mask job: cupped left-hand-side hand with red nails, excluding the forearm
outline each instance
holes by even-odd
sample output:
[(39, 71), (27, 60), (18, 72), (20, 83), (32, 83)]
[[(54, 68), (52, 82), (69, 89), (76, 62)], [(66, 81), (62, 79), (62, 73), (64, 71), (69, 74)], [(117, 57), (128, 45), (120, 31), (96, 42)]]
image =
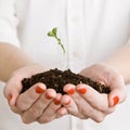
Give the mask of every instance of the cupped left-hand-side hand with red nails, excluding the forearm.
[[(11, 109), (21, 115), (25, 123), (32, 121), (46, 123), (67, 113), (65, 108), (61, 108), (62, 95), (53, 89), (47, 89), (41, 82), (21, 93), (22, 79), (44, 70), (47, 68), (38, 64), (25, 66), (15, 70), (4, 87), (4, 95)], [(57, 114), (56, 110), (60, 113)]]

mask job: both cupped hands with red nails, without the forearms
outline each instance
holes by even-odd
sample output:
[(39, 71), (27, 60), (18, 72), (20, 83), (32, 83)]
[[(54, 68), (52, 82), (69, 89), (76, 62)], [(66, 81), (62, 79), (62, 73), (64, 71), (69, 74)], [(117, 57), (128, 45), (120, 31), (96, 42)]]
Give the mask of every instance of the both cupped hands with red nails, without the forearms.
[(70, 114), (81, 119), (91, 118), (96, 122), (115, 110), (116, 104), (126, 99), (126, 87), (122, 76), (106, 64), (95, 64), (80, 74), (110, 87), (110, 93), (99, 93), (87, 84), (66, 84), (62, 95), (53, 89), (46, 89), (43, 83), (32, 86), (26, 92), (22, 90), (21, 80), (37, 73), (47, 70), (38, 64), (15, 70), (4, 88), (4, 95), (11, 109), (20, 114), (25, 123), (49, 122)]

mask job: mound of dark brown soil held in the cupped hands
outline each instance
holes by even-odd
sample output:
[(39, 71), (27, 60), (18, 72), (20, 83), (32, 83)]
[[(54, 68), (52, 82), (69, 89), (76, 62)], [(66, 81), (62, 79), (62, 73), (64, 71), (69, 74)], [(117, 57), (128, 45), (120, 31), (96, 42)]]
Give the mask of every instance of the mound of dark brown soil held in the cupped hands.
[(79, 74), (75, 74), (69, 69), (62, 72), (55, 68), (44, 73), (36, 74), (30, 78), (24, 78), (22, 80), (23, 90), (21, 93), (25, 92), (27, 89), (29, 89), (32, 84), (37, 82), (43, 82), (47, 86), (47, 88), (53, 88), (55, 89), (56, 92), (60, 92), (62, 94), (65, 94), (65, 92), (63, 91), (63, 87), (66, 83), (73, 83), (73, 84), (87, 83), (96, 91), (99, 91), (100, 93), (110, 92), (108, 87), (92, 81), (90, 78), (83, 77)]

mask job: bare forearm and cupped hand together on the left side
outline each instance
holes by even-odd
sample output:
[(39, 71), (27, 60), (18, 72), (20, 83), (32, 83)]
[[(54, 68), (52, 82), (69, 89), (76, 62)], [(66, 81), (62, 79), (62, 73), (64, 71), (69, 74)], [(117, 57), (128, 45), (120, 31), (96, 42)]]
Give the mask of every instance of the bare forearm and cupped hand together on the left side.
[(44, 72), (46, 67), (34, 63), (25, 52), (8, 43), (0, 43), (0, 79), (6, 82), (4, 95), (11, 109), (20, 114), (25, 123), (32, 121), (46, 123), (67, 113), (65, 108), (61, 108), (61, 113), (56, 114), (62, 105), (60, 104), (62, 95), (52, 89), (46, 89), (43, 83), (39, 82), (20, 94), (22, 79)]

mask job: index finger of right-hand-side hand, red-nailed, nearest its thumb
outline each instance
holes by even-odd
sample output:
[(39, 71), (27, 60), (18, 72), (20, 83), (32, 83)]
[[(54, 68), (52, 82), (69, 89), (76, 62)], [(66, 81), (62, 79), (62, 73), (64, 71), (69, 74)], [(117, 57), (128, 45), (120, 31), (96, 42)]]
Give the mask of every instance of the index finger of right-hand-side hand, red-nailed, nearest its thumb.
[[(112, 113), (114, 108), (108, 107), (108, 100), (107, 94), (99, 93), (93, 88), (89, 87), (88, 84), (78, 84), (76, 87), (77, 92), (82, 96), (86, 102), (88, 102), (92, 107), (95, 109)], [(84, 93), (86, 92), (86, 93)]]

